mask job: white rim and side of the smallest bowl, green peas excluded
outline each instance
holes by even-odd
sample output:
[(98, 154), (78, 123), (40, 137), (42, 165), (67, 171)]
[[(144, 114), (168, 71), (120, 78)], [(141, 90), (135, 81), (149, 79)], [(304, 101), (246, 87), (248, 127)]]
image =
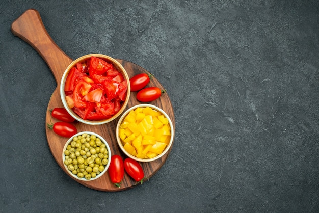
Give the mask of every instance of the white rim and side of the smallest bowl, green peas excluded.
[[(67, 149), (67, 146), (73, 141), (74, 137), (78, 137), (78, 136), (82, 136), (83, 134), (88, 134), (88, 135), (95, 135), (96, 138), (99, 138), (101, 140), (101, 142), (103, 144), (105, 144), (105, 148), (108, 150), (108, 163), (107, 165), (104, 165), (104, 170), (102, 172), (100, 172), (99, 174), (96, 175), (96, 177), (91, 178), (91, 179), (86, 179), (85, 177), (83, 178), (79, 178), (77, 175), (73, 174), (69, 169), (68, 166), (64, 163), (65, 159), (66, 159), (66, 155), (65, 155), (65, 150)], [(76, 149), (76, 148), (75, 148)], [(81, 156), (81, 155), (80, 155)], [(78, 159), (76, 157), (76, 159)], [(77, 134), (75, 134), (74, 136), (72, 136), (71, 138), (68, 139), (68, 141), (65, 143), (64, 147), (63, 147), (63, 152), (62, 152), (62, 161), (63, 161), (63, 165), (64, 168), (66, 169), (66, 171), (69, 173), (70, 176), (74, 177), (75, 179), (78, 180), (83, 180), (83, 181), (92, 181), (92, 180), (96, 180), (97, 178), (101, 177), (109, 168), (110, 163), (111, 163), (111, 149), (109, 144), (107, 143), (107, 141), (105, 141), (105, 139), (103, 137), (101, 137), (100, 135), (96, 134), (95, 132), (91, 132), (91, 131), (83, 131), (83, 132), (78, 132)]]

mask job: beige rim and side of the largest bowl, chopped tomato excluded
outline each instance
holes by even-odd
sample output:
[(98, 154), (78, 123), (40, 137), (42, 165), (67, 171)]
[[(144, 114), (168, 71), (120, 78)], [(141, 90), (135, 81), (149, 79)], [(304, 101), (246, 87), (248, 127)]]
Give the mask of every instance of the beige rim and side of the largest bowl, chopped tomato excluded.
[[(114, 114), (112, 117), (108, 118), (108, 119), (104, 119), (104, 120), (97, 120), (97, 121), (92, 121), (92, 120), (84, 120), (81, 117), (79, 117), (76, 113), (73, 112), (72, 109), (70, 109), (68, 107), (68, 104), (66, 102), (65, 99), (65, 92), (64, 92), (64, 87), (65, 87), (65, 81), (66, 78), (71, 70), (72, 67), (76, 66), (76, 63), (82, 63), (84, 61), (86, 61), (87, 59), (91, 58), (92, 56), (103, 59), (104, 61), (113, 64), (113, 66), (120, 72), (122, 73), (124, 79), (126, 79), (127, 81), (127, 92), (126, 92), (126, 98), (125, 100), (121, 103), (121, 109), (119, 110), (119, 112), (117, 112), (116, 114)], [(126, 70), (124, 69), (124, 67), (115, 59), (106, 56), (106, 55), (102, 55), (102, 54), (89, 54), (89, 55), (85, 55), (82, 57), (79, 57), (78, 59), (74, 60), (64, 71), (62, 79), (61, 79), (61, 85), (60, 85), (60, 95), (61, 95), (61, 100), (63, 103), (64, 108), (68, 111), (68, 113), (75, 118), (77, 121), (85, 123), (85, 124), (89, 124), (89, 125), (100, 125), (100, 124), (105, 124), (108, 122), (113, 121), (114, 119), (116, 119), (118, 116), (120, 116), (122, 114), (122, 112), (125, 110), (126, 105), (128, 103), (129, 97), (130, 97), (130, 84), (129, 84), (129, 77), (127, 75)]]

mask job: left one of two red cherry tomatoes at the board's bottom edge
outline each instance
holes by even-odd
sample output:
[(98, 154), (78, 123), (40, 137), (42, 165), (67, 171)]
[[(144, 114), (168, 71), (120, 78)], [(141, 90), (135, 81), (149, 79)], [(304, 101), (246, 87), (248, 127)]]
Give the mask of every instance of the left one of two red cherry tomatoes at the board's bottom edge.
[(124, 163), (120, 155), (112, 155), (108, 171), (111, 182), (115, 185), (115, 187), (120, 188), (120, 184), (124, 177)]

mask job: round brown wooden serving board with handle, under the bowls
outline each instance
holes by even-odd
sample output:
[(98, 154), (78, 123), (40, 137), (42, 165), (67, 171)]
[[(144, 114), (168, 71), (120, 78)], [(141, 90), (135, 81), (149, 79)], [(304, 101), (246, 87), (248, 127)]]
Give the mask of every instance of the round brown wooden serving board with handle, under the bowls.
[[(47, 33), (43, 25), (39, 12), (35, 9), (29, 9), (25, 11), (18, 19), (16, 19), (12, 23), (11, 30), (15, 36), (29, 43), (33, 48), (37, 50), (37, 52), (42, 56), (42, 58), (45, 60), (45, 62), (49, 66), (50, 70), (52, 71), (56, 79), (57, 88), (55, 89), (55, 91), (53, 92), (49, 100), (49, 103), (47, 106), (45, 124), (43, 127), (46, 130), (47, 142), (52, 155), (56, 159), (59, 166), (65, 171), (66, 174), (68, 174), (62, 162), (62, 149), (64, 144), (67, 141), (67, 138), (58, 136), (52, 130), (47, 128), (46, 124), (51, 123), (51, 121), (53, 123), (58, 121), (55, 118), (51, 117), (49, 110), (54, 109), (56, 107), (63, 107), (63, 104), (60, 98), (60, 82), (65, 69), (73, 60), (70, 57), (68, 57), (58, 47), (58, 45), (51, 39), (51, 37), (49, 36), (49, 34)], [(131, 63), (125, 60), (120, 60), (120, 59), (117, 59), (117, 61), (119, 61), (122, 64), (122, 66), (126, 69), (129, 77), (132, 77), (139, 73), (148, 73), (145, 69), (143, 69), (142, 67), (134, 63)], [(151, 80), (151, 82), (149, 83), (149, 86), (157, 86), (161, 89), (164, 89), (163, 86), (157, 81), (156, 78), (153, 78)], [(136, 92), (131, 92), (130, 100), (127, 104), (126, 109), (140, 103), (141, 102), (139, 102), (136, 99)], [(173, 112), (173, 107), (172, 107), (169, 96), (167, 94), (163, 94), (161, 98), (150, 102), (150, 104), (156, 105), (157, 107), (163, 109), (170, 116), (173, 122), (174, 130), (175, 130), (174, 112)], [(109, 143), (112, 155), (119, 154), (124, 159), (126, 156), (119, 149), (117, 145), (117, 141), (116, 141), (116, 135), (115, 135), (118, 119), (119, 118), (113, 120), (112, 122), (108, 124), (103, 124), (103, 125), (87, 125), (87, 124), (83, 124), (79, 122), (74, 122), (74, 125), (76, 126), (78, 132), (92, 131), (101, 135)], [(168, 153), (164, 155), (162, 158), (159, 158), (158, 160), (154, 162), (140, 163), (142, 168), (144, 169), (145, 177), (150, 178), (163, 166), (170, 151), (171, 150), (169, 150)], [(92, 180), (92, 181), (81, 181), (75, 178), (73, 179), (85, 185), (86, 187), (89, 187), (95, 190), (100, 190), (100, 191), (121, 191), (121, 190), (132, 188), (135, 185), (137, 185), (137, 182), (134, 181), (132, 178), (130, 178), (127, 175), (127, 173), (124, 174), (124, 179), (121, 184), (121, 188), (114, 187), (113, 183), (110, 181), (108, 172), (104, 173), (104, 175), (101, 176), (100, 178), (96, 180)]]

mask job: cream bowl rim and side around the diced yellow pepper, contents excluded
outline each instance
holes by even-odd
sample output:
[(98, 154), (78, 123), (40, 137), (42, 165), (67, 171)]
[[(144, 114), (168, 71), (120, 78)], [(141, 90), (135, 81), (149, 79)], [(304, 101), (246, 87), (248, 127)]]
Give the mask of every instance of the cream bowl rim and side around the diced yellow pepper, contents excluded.
[[(170, 127), (170, 131), (171, 131), (171, 138), (170, 138), (170, 141), (168, 143), (168, 145), (165, 147), (164, 151), (161, 153), (161, 154), (158, 154), (157, 156), (155, 157), (152, 157), (152, 158), (139, 158), (139, 157), (136, 157), (134, 155), (131, 155), (130, 153), (128, 153), (124, 147), (123, 147), (123, 144), (122, 144), (122, 141), (121, 141), (121, 138), (120, 138), (120, 135), (119, 135), (119, 129), (120, 129), (120, 125), (122, 124), (124, 118), (128, 115), (128, 113), (132, 110), (135, 110), (137, 108), (146, 108), (146, 107), (150, 107), (152, 110), (155, 110), (157, 112), (160, 112), (162, 115), (164, 115), (164, 117), (166, 117), (168, 119), (168, 122), (169, 122), (169, 127)], [(155, 105), (152, 105), (152, 104), (139, 104), (139, 105), (135, 105), (134, 107), (131, 107), (129, 108), (128, 110), (126, 110), (122, 116), (120, 117), (118, 123), (117, 123), (117, 126), (116, 126), (116, 140), (117, 140), (117, 143), (120, 147), (120, 149), (124, 152), (124, 154), (126, 154), (128, 157), (132, 158), (132, 159), (135, 159), (136, 161), (139, 161), (139, 162), (151, 162), (151, 161), (155, 161), (156, 159), (158, 158), (161, 158), (163, 155), (165, 155), (168, 150), (170, 150), (172, 144), (173, 144), (173, 140), (174, 140), (174, 128), (173, 128), (173, 123), (170, 119), (170, 117), (161, 109), (161, 108), (158, 108), (156, 107)]]

